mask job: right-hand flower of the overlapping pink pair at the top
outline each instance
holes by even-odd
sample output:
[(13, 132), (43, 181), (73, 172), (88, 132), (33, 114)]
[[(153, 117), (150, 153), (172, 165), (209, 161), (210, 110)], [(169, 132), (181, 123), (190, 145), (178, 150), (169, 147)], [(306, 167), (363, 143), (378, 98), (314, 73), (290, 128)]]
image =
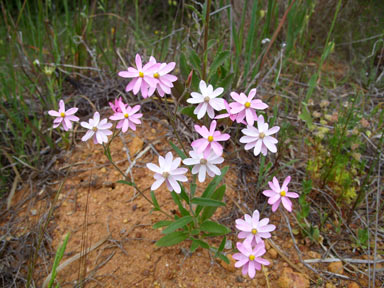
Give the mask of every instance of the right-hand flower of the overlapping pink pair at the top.
[[(152, 62), (154, 65), (157, 64), (156, 59), (153, 56), (151, 56), (149, 61)], [(177, 77), (168, 73), (175, 69), (175, 66), (175, 62), (170, 62), (168, 64), (161, 63), (160, 66), (157, 66), (158, 68), (153, 73), (153, 78), (159, 81), (155, 87), (148, 86), (148, 97), (152, 96), (156, 89), (161, 97), (163, 97), (165, 94), (171, 94), (171, 88), (173, 87), (172, 82), (175, 82), (177, 80)]]

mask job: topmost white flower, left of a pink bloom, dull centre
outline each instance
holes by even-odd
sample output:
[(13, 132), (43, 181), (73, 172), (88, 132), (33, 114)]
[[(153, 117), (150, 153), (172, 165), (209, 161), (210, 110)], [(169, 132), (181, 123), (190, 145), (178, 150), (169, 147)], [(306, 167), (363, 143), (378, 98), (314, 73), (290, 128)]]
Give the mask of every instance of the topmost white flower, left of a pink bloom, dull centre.
[(197, 119), (204, 117), (205, 113), (208, 113), (209, 118), (213, 119), (215, 117), (215, 111), (220, 111), (225, 109), (224, 99), (216, 98), (224, 92), (224, 88), (219, 87), (213, 90), (212, 85), (208, 85), (201, 80), (199, 84), (200, 92), (192, 92), (192, 98), (187, 99), (188, 103), (199, 104), (193, 111), (197, 115)]

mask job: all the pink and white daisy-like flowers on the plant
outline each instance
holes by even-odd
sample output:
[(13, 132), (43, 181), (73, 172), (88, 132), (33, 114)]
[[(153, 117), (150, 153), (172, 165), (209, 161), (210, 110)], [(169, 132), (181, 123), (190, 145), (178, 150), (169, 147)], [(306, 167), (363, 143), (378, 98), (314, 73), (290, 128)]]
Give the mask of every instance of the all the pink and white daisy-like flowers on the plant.
[[(171, 93), (173, 82), (177, 77), (169, 74), (174, 68), (175, 63), (157, 63), (154, 57), (151, 57), (149, 62), (145, 65), (142, 64), (141, 57), (136, 55), (136, 68), (129, 67), (127, 71), (121, 71), (119, 76), (124, 78), (133, 78), (126, 86), (126, 91), (132, 91), (135, 95), (140, 91), (144, 98), (151, 97), (155, 91), (163, 97), (165, 94)], [(202, 119), (206, 114), (212, 122), (209, 129), (202, 125), (195, 125), (196, 132), (201, 138), (191, 143), (191, 151), (189, 151), (190, 158), (183, 160), (183, 164), (193, 166), (192, 174), (198, 174), (200, 182), (204, 182), (206, 174), (209, 177), (220, 175), (221, 171), (216, 166), (224, 162), (223, 146), (219, 142), (227, 141), (230, 138), (229, 134), (221, 133), (217, 128), (216, 119), (229, 118), (231, 121), (236, 121), (246, 125), (242, 129), (244, 136), (240, 138), (240, 142), (245, 144), (245, 149), (250, 150), (253, 148), (253, 153), (258, 156), (260, 153), (264, 156), (270, 151), (275, 153), (277, 151), (276, 138), (272, 137), (279, 131), (278, 126), (269, 129), (268, 123), (264, 121), (262, 115), (257, 115), (256, 110), (264, 110), (268, 105), (259, 99), (254, 99), (256, 96), (256, 89), (252, 89), (248, 96), (244, 93), (231, 92), (230, 96), (234, 100), (228, 103), (225, 99), (220, 98), (224, 89), (219, 87), (214, 89), (212, 85), (207, 85), (203, 80), (199, 84), (200, 93), (192, 92), (191, 98), (187, 100), (188, 103), (197, 104), (194, 109), (194, 114), (198, 119)], [(140, 118), (143, 116), (138, 113), (141, 106), (134, 107), (125, 104), (121, 97), (116, 99), (114, 103), (109, 103), (114, 114), (109, 117), (110, 120), (118, 121), (116, 129), (121, 129), (125, 133), (129, 128), (136, 130), (136, 125), (141, 124)], [(64, 101), (59, 102), (59, 111), (50, 110), (49, 115), (56, 117), (53, 127), (56, 128), (60, 124), (65, 131), (72, 129), (72, 122), (78, 122), (79, 118), (74, 116), (78, 108), (70, 108), (65, 110)], [(225, 110), (226, 113), (215, 115), (215, 111)], [(255, 122), (257, 128), (254, 127)], [(88, 141), (93, 138), (95, 144), (108, 143), (108, 136), (112, 135), (112, 123), (108, 119), (100, 120), (99, 112), (95, 112), (93, 118), (88, 122), (81, 122), (80, 125), (88, 131), (82, 137), (82, 141)], [(152, 184), (151, 189), (157, 190), (164, 182), (168, 190), (181, 193), (181, 187), (178, 182), (186, 182), (188, 178), (185, 176), (188, 169), (180, 167), (181, 158), (173, 158), (173, 154), (168, 152), (165, 157), (159, 156), (159, 165), (148, 163), (147, 168), (153, 171), (155, 182)], [(272, 205), (272, 211), (275, 212), (280, 203), (288, 210), (292, 211), (292, 202), (289, 198), (297, 198), (298, 194), (288, 192), (288, 183), (290, 177), (284, 180), (283, 185), (280, 187), (278, 180), (274, 177), (272, 182), (269, 182), (271, 190), (266, 190), (263, 194), (269, 197), (268, 204)], [(243, 243), (238, 242), (237, 248), (240, 253), (234, 255), (238, 260), (236, 267), (243, 267), (243, 274), (247, 274), (253, 278), (255, 270), (260, 270), (261, 265), (268, 265), (269, 262), (261, 256), (266, 252), (264, 241), (262, 238), (271, 237), (270, 232), (275, 230), (275, 226), (268, 224), (269, 219), (264, 218), (260, 220), (260, 215), (257, 210), (253, 212), (252, 217), (245, 215), (245, 220), (237, 219), (236, 227), (241, 230), (238, 237), (245, 239)]]

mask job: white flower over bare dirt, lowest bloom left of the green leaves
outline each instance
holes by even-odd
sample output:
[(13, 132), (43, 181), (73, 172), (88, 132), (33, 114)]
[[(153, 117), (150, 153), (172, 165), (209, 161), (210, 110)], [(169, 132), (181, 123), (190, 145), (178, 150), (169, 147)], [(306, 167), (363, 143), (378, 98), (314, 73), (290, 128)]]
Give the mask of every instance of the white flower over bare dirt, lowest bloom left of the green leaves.
[(169, 191), (175, 191), (180, 194), (181, 188), (177, 181), (188, 181), (188, 178), (184, 175), (187, 173), (188, 169), (178, 168), (180, 163), (181, 158), (176, 157), (175, 160), (173, 160), (171, 152), (168, 152), (165, 155), (165, 158), (159, 156), (159, 166), (153, 163), (147, 163), (147, 168), (155, 172), (154, 178), (156, 181), (152, 184), (151, 190), (156, 190), (163, 184), (163, 182), (165, 182)]

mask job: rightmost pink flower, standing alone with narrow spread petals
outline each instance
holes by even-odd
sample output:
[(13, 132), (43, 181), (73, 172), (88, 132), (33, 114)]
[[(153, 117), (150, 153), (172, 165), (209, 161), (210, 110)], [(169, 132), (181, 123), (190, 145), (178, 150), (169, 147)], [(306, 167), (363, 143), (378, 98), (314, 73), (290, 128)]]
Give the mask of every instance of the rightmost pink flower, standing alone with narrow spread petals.
[(289, 212), (292, 212), (292, 202), (289, 198), (298, 198), (299, 194), (294, 192), (288, 192), (288, 184), (291, 181), (291, 176), (285, 178), (283, 185), (280, 187), (279, 181), (277, 181), (276, 177), (273, 177), (273, 182), (268, 182), (269, 187), (272, 190), (265, 190), (263, 194), (268, 199), (268, 204), (272, 205), (272, 211), (275, 212), (280, 205), (280, 202), (283, 202), (283, 206)]

